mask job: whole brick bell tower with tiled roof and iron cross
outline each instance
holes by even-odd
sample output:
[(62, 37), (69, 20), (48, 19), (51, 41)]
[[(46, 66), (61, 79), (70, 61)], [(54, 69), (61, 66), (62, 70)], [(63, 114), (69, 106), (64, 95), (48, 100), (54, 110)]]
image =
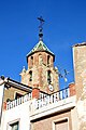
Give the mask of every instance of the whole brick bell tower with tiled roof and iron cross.
[(22, 83), (38, 87), (41, 91), (52, 93), (59, 90), (58, 68), (54, 67), (55, 55), (43, 42), (44, 20), (38, 17), (39, 42), (27, 54), (28, 69), (20, 73)]

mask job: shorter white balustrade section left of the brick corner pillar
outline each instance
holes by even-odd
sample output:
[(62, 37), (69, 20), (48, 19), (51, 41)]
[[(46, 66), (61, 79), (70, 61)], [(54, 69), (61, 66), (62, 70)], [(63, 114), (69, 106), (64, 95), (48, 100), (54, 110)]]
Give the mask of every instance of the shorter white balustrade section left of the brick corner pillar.
[(11, 109), (15, 106), (18, 106), (18, 105), (31, 100), (31, 98), (32, 98), (31, 93), (28, 93), (28, 94), (26, 94), (26, 95), (24, 95), (24, 96), (22, 96), (17, 100), (10, 101), (10, 102), (6, 103), (6, 109)]

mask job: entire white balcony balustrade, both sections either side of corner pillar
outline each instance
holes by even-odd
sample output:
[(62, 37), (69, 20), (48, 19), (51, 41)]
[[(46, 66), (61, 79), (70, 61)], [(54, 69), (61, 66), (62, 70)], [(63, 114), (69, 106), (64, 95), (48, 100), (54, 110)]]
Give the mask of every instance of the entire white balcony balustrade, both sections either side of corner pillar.
[[(53, 94), (45, 94), (45, 93), (40, 93), (40, 99), (35, 99), (31, 101), (30, 107), (32, 109), (39, 109), (43, 106), (47, 106), (48, 104), (55, 104), (58, 101), (61, 101), (63, 99), (67, 99), (71, 96), (70, 93), (70, 88), (62, 89), (60, 91), (57, 91)], [(6, 103), (6, 109), (11, 109), (15, 106), (18, 106), (27, 101), (30, 101), (32, 99), (32, 93), (28, 93), (17, 100), (13, 100)]]

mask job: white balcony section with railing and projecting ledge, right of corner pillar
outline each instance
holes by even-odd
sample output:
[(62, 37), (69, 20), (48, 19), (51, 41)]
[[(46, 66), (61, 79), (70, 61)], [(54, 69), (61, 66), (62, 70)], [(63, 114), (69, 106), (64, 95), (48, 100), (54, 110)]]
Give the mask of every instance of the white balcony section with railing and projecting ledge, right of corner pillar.
[(43, 95), (43, 93), (41, 93), (41, 99), (32, 100), (30, 106), (30, 121), (66, 112), (75, 107), (75, 89), (71, 91), (71, 88), (66, 88), (51, 95)]

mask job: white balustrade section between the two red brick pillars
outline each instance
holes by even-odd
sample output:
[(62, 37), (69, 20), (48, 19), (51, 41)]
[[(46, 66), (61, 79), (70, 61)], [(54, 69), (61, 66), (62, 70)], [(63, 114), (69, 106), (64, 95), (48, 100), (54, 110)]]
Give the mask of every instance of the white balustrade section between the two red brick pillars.
[(35, 100), (35, 103), (34, 103), (35, 108), (34, 109), (39, 109), (39, 108), (46, 106), (48, 104), (57, 103), (58, 101), (67, 99), (69, 96), (70, 96), (69, 88), (62, 89), (62, 90), (55, 92), (51, 95), (42, 96), (41, 99)]

